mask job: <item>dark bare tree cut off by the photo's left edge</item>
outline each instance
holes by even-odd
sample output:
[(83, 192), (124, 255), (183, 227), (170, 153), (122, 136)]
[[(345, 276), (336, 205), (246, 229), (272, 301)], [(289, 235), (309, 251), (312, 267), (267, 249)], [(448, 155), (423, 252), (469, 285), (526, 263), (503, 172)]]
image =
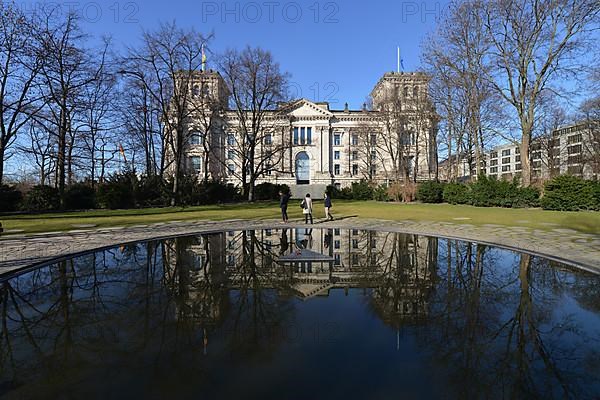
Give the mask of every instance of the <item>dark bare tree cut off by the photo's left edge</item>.
[(36, 78), (44, 56), (35, 16), (0, 2), (0, 184), (7, 151), (39, 108)]

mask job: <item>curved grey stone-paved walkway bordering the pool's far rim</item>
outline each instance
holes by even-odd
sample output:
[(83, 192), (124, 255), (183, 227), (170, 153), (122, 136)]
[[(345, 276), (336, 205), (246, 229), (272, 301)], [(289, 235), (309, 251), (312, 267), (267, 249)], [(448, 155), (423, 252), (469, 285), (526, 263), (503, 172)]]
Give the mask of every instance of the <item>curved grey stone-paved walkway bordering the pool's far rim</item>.
[[(122, 243), (223, 230), (280, 228), (282, 226), (284, 225), (276, 220), (172, 221), (151, 225), (80, 229), (27, 236), (4, 235), (0, 237), (0, 276), (59, 257)], [(285, 226), (295, 227), (304, 226), (304, 224), (298, 221)], [(362, 218), (321, 222), (315, 224), (314, 227), (372, 229), (463, 239), (524, 250), (600, 274), (600, 235), (585, 234), (570, 229), (542, 231), (492, 224), (476, 227), (466, 223), (387, 221)]]

